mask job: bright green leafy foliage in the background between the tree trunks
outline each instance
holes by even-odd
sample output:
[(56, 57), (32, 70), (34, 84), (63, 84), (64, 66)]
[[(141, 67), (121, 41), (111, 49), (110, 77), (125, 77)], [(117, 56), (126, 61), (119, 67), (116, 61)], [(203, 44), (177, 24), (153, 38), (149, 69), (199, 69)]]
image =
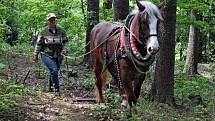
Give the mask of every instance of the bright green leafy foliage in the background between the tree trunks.
[[(103, 2), (100, 1), (100, 21), (113, 21), (113, 9), (104, 9)], [(159, 0), (153, 0), (159, 3)], [(130, 2), (132, 10), (135, 1)], [(32, 32), (40, 30), (46, 26), (46, 15), (54, 12), (58, 18), (58, 24), (63, 26), (69, 35), (69, 50), (74, 53), (84, 53), (85, 49), (85, 25), (86, 25), (86, 1), (84, 1), (83, 13), (81, 2), (79, 0), (11, 0), (4, 1), (0, 4), (0, 38), (6, 33), (3, 23), (6, 20), (12, 21), (12, 24), (18, 28), (19, 42), (26, 42), (30, 38)], [(195, 10), (202, 15), (203, 20), (195, 20), (190, 18), (190, 10)], [(181, 0), (177, 1), (177, 42), (182, 43), (182, 47), (186, 48), (188, 40), (188, 26), (194, 25), (201, 28), (201, 31), (214, 31), (214, 4), (213, 0)], [(90, 21), (91, 25), (95, 25), (96, 21)], [(1, 40), (0, 40), (1, 41)], [(207, 41), (207, 40), (203, 40)], [(213, 50), (214, 44), (209, 43), (209, 50)], [(210, 51), (213, 53), (213, 51)], [(208, 53), (207, 53), (208, 54)], [(209, 54), (212, 55), (212, 54)], [(209, 56), (208, 56), (209, 57)], [(210, 56), (210, 60), (214, 60)]]

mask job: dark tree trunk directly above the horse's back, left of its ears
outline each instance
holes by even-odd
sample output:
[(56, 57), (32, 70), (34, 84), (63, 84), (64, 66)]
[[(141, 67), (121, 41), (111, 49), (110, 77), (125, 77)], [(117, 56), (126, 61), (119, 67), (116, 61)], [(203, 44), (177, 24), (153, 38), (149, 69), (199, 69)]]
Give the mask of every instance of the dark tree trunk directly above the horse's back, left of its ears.
[(114, 21), (124, 20), (129, 14), (129, 0), (114, 0)]

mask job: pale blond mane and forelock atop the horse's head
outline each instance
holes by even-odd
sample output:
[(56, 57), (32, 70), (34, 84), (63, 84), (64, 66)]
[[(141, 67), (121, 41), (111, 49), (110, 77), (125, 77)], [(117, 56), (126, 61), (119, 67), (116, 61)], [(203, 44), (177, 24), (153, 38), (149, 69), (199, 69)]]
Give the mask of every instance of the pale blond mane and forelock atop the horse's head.
[[(144, 11), (141, 13), (147, 13), (149, 17), (156, 17), (163, 20), (160, 10), (158, 7), (150, 1), (140, 1), (140, 3), (145, 7)], [(138, 7), (136, 6), (132, 13), (137, 13)]]

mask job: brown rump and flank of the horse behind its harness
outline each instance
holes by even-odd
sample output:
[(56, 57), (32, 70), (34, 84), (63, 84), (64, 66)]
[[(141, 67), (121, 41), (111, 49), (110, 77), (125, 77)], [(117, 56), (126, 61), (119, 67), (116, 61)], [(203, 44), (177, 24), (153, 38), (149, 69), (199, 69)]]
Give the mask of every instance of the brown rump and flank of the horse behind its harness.
[[(113, 31), (120, 26), (121, 25), (117, 23), (103, 22), (97, 24), (92, 29), (90, 35), (90, 50), (92, 51), (90, 53), (90, 58), (94, 69), (96, 69), (95, 73), (101, 73), (103, 67), (102, 65), (104, 63), (104, 51), (106, 50), (104, 45), (108, 46), (106, 47), (108, 48), (108, 51), (111, 50), (111, 45), (115, 43), (115, 41), (113, 41), (115, 40), (115, 36), (110, 36), (112, 35)], [(106, 42), (108, 42), (108, 45), (105, 44)], [(109, 55), (111, 56), (112, 52), (109, 52)]]

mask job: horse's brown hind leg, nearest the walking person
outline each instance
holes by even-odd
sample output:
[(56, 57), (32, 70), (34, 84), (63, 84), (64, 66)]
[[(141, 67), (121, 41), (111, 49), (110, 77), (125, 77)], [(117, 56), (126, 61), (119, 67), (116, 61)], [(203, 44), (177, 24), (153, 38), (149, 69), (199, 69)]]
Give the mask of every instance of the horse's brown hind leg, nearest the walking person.
[(95, 87), (96, 101), (98, 103), (102, 103), (104, 102), (102, 90), (106, 84), (109, 73), (106, 70), (104, 73), (101, 74), (101, 70), (98, 71), (97, 69), (95, 69), (94, 72), (96, 74), (96, 87)]

